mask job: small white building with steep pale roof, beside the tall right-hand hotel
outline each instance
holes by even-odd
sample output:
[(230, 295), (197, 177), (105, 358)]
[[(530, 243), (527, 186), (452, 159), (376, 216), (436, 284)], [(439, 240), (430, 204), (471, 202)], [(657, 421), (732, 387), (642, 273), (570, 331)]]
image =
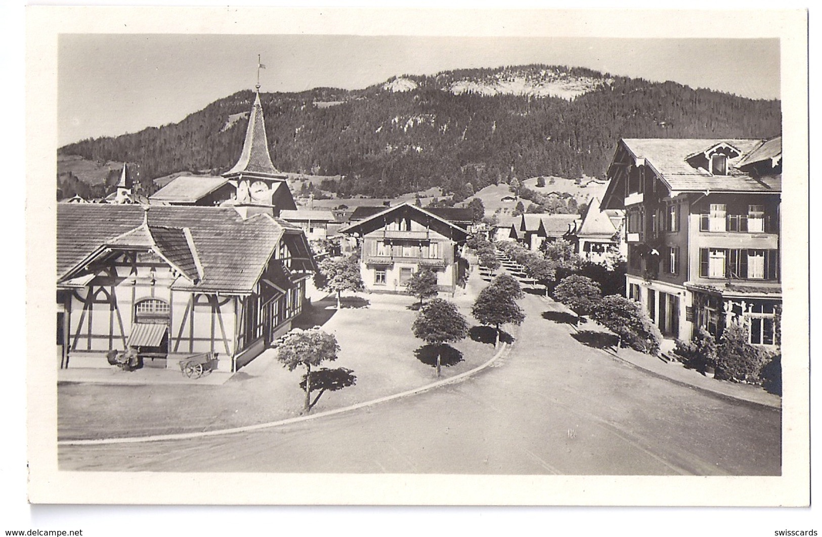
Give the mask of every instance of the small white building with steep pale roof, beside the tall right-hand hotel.
[(580, 257), (598, 264), (607, 263), (613, 254), (626, 259), (628, 244), (624, 220), (625, 211), (602, 209), (600, 200), (594, 197), (572, 236)]

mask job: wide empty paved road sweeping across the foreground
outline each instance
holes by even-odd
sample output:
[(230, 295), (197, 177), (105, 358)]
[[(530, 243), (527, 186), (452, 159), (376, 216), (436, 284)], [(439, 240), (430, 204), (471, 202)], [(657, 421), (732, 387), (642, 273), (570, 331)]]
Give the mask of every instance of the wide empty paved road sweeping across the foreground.
[(192, 440), (61, 446), (61, 470), (510, 475), (779, 475), (781, 412), (635, 369), (543, 319), (445, 388), (298, 425)]

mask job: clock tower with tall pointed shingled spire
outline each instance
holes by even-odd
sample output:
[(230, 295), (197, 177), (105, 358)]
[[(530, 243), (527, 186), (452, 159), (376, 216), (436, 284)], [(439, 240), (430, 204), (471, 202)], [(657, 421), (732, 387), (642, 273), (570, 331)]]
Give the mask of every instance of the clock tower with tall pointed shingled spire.
[(288, 176), (271, 163), (259, 84), (256, 85), (240, 159), (223, 177), (236, 185), (237, 198), (233, 204), (246, 217), (256, 213), (278, 217), (281, 210), (297, 209), (289, 189)]

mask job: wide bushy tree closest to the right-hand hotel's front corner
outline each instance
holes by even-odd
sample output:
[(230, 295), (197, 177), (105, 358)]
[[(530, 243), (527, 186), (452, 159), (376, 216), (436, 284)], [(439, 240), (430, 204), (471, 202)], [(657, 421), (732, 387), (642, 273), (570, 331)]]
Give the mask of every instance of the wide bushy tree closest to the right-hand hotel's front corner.
[(606, 296), (591, 311), (591, 319), (617, 334), (617, 352), (623, 343), (653, 356), (659, 352), (662, 334), (639, 302), (625, 296)]

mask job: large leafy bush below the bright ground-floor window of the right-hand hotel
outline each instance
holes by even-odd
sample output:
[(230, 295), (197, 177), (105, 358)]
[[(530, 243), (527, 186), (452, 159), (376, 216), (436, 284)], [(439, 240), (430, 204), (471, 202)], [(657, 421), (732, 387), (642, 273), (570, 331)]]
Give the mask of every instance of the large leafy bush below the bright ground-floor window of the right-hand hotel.
[(767, 352), (748, 342), (748, 331), (739, 323), (725, 327), (717, 349), (714, 377), (733, 382), (760, 383)]

